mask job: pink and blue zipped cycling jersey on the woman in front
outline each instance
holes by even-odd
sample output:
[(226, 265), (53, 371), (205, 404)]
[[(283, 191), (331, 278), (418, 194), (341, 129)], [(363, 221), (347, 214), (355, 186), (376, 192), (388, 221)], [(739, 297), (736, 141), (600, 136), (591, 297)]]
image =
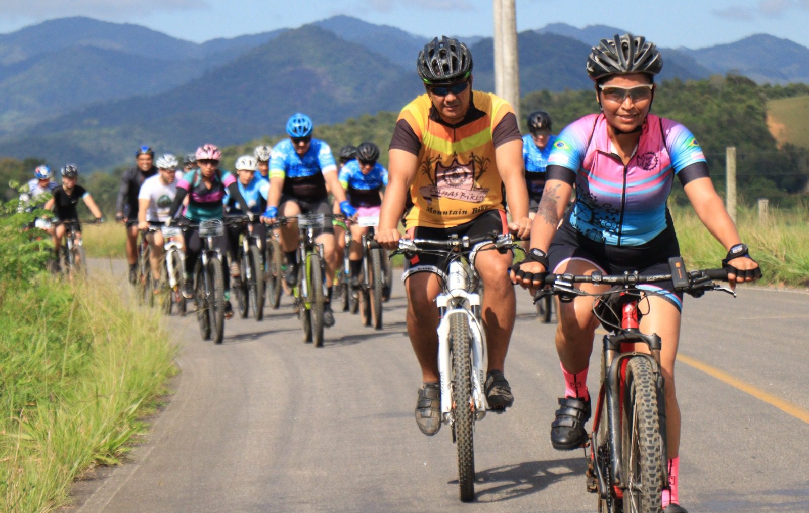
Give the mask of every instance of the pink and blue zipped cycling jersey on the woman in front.
[[(588, 239), (613, 246), (645, 244), (667, 227), (666, 201), (675, 175), (682, 184), (708, 176), (705, 155), (691, 132), (654, 114), (646, 117), (626, 165), (608, 137), (604, 114), (591, 114), (559, 134), (548, 166), (549, 172), (561, 166), (575, 174), (569, 181), (576, 184), (570, 224)], [(556, 177), (549, 174), (549, 180)]]

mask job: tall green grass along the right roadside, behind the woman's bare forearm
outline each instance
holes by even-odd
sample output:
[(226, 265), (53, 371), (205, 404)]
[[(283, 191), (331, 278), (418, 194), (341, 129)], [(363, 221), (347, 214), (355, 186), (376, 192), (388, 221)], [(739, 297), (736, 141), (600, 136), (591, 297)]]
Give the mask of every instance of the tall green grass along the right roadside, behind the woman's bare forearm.
[[(680, 251), (689, 268), (718, 267), (725, 249), (690, 207), (671, 207)], [(736, 225), (751, 256), (761, 265), (762, 284), (809, 286), (809, 204), (770, 209), (761, 220), (754, 208), (741, 206)]]

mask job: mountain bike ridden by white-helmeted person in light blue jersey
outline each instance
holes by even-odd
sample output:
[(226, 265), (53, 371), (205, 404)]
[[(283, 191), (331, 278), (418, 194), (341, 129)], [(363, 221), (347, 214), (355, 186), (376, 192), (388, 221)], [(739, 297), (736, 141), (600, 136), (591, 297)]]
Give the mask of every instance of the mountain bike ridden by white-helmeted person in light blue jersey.
[(262, 241), (253, 235), (253, 223), (244, 216), (228, 218), (228, 224), (241, 225), (242, 241), (236, 252), (235, 264), (239, 266), (239, 278), (233, 278), (231, 290), (239, 304), (239, 316), (246, 318), (252, 307), (256, 320), (264, 319), (264, 260), (261, 255)]

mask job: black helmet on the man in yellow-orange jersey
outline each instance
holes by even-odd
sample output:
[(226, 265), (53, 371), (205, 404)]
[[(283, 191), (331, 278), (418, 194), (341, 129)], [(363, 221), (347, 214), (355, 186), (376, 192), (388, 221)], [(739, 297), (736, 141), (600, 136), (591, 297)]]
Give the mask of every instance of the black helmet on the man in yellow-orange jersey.
[(472, 53), (459, 40), (436, 37), (418, 53), (416, 68), (428, 85), (460, 82), (472, 74)]

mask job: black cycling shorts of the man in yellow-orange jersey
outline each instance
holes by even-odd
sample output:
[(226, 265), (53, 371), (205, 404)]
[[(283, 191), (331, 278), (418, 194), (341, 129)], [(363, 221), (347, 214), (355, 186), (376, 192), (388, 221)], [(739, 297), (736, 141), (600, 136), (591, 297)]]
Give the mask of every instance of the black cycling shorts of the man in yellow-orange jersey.
[[(475, 237), (492, 233), (493, 231), (497, 231), (498, 234), (508, 233), (508, 223), (506, 222), (506, 212), (504, 210), (488, 210), (468, 223), (459, 224), (451, 228), (413, 227), (408, 230), (408, 235), (412, 239), (448, 240), (450, 235)], [(472, 252), (475, 248), (472, 248)], [(446, 257), (439, 255), (414, 255), (413, 258), (407, 261), (407, 269), (402, 273), (402, 282), (414, 273), (434, 273), (446, 280), (447, 273), (444, 271), (447, 266), (445, 261)]]

